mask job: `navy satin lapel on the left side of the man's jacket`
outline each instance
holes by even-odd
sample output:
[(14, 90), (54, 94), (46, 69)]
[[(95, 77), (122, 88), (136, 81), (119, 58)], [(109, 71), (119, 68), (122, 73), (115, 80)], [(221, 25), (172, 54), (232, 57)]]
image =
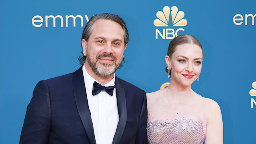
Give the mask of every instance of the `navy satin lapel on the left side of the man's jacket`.
[(96, 144), (94, 130), (92, 125), (91, 112), (89, 110), (86, 89), (84, 85), (84, 76), (82, 67), (80, 67), (73, 75), (73, 89), (76, 100), (76, 107), (82, 123), (84, 125), (85, 132), (91, 144)]

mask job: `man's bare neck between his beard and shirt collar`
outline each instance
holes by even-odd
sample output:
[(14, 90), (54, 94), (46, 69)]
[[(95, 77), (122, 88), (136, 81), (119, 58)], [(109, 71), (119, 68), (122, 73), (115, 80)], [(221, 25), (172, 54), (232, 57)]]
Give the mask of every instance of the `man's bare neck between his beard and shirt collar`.
[(94, 78), (95, 80), (97, 80), (98, 82), (100, 82), (100, 84), (104, 85), (107, 84), (108, 82), (110, 82), (113, 78), (114, 78), (114, 74), (110, 75), (110, 76), (98, 76), (97, 74), (95, 74), (92, 71), (92, 68), (90, 67), (90, 65), (88, 63), (84, 64), (84, 67), (86, 69), (86, 72), (88, 72), (88, 74)]

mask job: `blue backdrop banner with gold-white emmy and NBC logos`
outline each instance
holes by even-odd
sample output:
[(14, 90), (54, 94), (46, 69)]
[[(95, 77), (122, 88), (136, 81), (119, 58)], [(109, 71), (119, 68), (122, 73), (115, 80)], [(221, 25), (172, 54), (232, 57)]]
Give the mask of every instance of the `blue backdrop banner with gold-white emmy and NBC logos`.
[(145, 90), (170, 82), (170, 41), (191, 34), (204, 58), (198, 94), (218, 102), (225, 144), (256, 144), (256, 1), (0, 0), (0, 143), (17, 144), (37, 82), (80, 67), (82, 30), (99, 13), (127, 24), (127, 62), (116, 76)]

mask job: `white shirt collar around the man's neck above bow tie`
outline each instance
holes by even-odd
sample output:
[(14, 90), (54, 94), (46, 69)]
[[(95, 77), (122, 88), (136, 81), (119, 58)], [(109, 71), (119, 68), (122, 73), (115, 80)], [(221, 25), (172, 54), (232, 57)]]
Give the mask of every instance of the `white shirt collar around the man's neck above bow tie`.
[[(98, 81), (95, 80), (94, 78), (92, 78), (92, 76), (90, 76), (90, 74), (88, 74), (88, 72), (86, 71), (84, 65), (82, 67), (82, 70), (83, 70), (83, 75), (84, 75), (85, 87), (91, 93), (92, 92), (93, 83), (94, 82), (98, 82)], [(104, 84), (103, 86), (114, 86), (115, 85), (115, 78), (116, 78), (116, 74), (114, 74), (114, 78), (112, 80), (110, 80), (110, 82), (108, 82), (107, 84)], [(98, 83), (100, 84), (100, 82), (98, 82)]]

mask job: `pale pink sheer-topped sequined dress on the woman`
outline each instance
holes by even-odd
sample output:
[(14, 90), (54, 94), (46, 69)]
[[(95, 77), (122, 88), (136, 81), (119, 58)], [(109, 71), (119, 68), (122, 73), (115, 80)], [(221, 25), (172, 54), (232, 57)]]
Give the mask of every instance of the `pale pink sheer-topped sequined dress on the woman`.
[(195, 92), (168, 88), (147, 94), (148, 144), (203, 144), (208, 106)]

